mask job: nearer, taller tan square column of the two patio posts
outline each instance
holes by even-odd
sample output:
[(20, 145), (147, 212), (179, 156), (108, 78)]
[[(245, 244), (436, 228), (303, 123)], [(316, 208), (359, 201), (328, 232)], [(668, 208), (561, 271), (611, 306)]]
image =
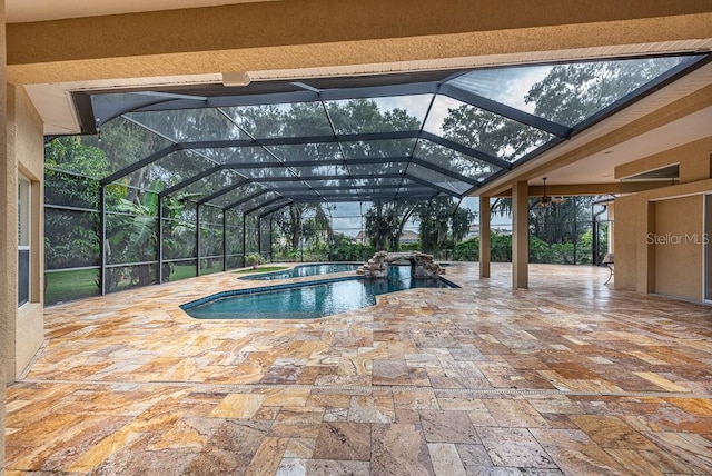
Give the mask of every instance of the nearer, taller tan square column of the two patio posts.
[(517, 181), (512, 187), (512, 287), (530, 286), (530, 186)]

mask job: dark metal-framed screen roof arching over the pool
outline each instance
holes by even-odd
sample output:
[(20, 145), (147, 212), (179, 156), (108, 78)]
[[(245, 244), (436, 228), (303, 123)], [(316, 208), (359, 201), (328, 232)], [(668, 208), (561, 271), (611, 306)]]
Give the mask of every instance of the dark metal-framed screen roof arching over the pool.
[[(101, 184), (268, 216), (294, 202), (462, 199), (710, 54), (75, 92), (82, 130), (141, 137)], [(101, 141), (95, 142), (102, 147)]]

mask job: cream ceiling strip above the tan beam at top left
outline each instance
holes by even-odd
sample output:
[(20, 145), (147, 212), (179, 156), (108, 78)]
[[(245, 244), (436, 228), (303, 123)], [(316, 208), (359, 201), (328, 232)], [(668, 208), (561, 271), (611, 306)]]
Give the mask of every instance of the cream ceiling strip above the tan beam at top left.
[(6, 0), (8, 23), (278, 0)]

